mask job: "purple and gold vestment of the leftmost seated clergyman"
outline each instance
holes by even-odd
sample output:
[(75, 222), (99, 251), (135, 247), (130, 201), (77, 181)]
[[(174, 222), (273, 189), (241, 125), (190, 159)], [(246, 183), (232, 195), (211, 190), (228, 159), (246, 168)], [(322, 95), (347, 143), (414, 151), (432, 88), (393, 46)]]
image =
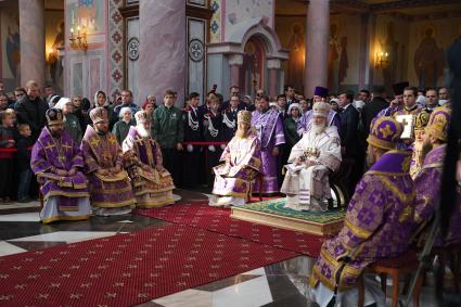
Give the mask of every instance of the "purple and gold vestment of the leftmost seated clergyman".
[(77, 171), (74, 176), (55, 174), (54, 169), (69, 171), (84, 167), (81, 152), (67, 132), (55, 139), (44, 127), (33, 148), (30, 167), (41, 184), (43, 199), (60, 196), (60, 210), (78, 210), (78, 197), (89, 196), (87, 178), (82, 172)]

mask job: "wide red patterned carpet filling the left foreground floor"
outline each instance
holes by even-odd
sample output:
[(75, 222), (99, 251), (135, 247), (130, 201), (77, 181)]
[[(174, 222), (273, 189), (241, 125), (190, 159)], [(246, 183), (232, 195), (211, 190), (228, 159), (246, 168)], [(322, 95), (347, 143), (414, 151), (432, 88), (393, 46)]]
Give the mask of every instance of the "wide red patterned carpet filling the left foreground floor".
[(132, 306), (295, 257), (183, 225), (0, 257), (1, 306)]

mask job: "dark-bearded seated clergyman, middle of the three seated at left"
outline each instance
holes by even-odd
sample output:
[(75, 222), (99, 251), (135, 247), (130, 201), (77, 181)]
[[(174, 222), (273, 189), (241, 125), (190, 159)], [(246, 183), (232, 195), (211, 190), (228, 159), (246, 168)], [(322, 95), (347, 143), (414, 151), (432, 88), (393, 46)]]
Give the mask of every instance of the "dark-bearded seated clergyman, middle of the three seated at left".
[(128, 174), (124, 170), (121, 148), (108, 132), (107, 111), (95, 107), (90, 112), (93, 127), (88, 126), (81, 141), (93, 213), (101, 216), (131, 212), (136, 200)]

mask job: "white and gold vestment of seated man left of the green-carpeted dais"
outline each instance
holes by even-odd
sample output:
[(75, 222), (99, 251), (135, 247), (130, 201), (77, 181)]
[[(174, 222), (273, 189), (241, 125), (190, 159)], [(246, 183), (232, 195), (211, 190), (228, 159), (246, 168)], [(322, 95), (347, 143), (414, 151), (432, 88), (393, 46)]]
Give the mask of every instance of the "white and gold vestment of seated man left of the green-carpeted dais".
[(219, 196), (245, 199), (252, 189), (252, 181), (261, 166), (260, 142), (256, 133), (241, 139), (233, 137), (222, 152), (221, 164), (214, 167), (213, 193)]

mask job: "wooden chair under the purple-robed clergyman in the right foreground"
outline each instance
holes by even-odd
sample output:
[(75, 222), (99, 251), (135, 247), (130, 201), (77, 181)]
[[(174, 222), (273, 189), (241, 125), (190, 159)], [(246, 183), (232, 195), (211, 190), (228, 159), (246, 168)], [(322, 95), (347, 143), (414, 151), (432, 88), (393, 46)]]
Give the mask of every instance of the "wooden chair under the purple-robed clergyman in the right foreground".
[[(368, 267), (368, 271), (380, 276), (381, 289), (383, 290), (384, 294), (386, 294), (386, 290), (387, 290), (387, 276), (392, 278), (393, 280), (392, 306), (398, 307), (400, 277), (414, 273), (415, 270), (418, 269), (418, 266), (419, 266), (419, 260), (418, 260), (417, 252), (410, 250), (400, 256), (379, 260), (376, 263), (371, 264)], [(421, 294), (422, 285), (423, 285), (423, 277), (419, 277), (417, 287), (414, 289), (414, 292), (412, 294), (414, 307), (420, 306), (420, 294)], [(364, 285), (363, 285), (362, 278), (360, 278), (358, 281), (358, 290), (359, 290), (358, 306), (362, 307), (364, 304)]]

